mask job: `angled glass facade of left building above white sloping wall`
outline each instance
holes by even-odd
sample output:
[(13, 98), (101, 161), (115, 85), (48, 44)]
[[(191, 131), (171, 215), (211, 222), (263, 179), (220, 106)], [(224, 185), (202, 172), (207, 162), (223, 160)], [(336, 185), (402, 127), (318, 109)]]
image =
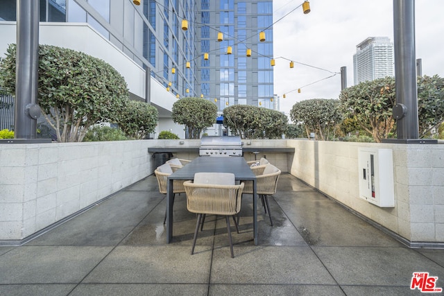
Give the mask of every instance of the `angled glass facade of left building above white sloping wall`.
[[(182, 96), (189, 89), (187, 94), (198, 96), (196, 0), (142, 0), (140, 6), (131, 0), (39, 1), (40, 21), (86, 22), (141, 67), (151, 69), (151, 76), (173, 94)], [(0, 20), (16, 20), (16, 2), (0, 0)], [(180, 28), (182, 19), (189, 21), (187, 31)]]

